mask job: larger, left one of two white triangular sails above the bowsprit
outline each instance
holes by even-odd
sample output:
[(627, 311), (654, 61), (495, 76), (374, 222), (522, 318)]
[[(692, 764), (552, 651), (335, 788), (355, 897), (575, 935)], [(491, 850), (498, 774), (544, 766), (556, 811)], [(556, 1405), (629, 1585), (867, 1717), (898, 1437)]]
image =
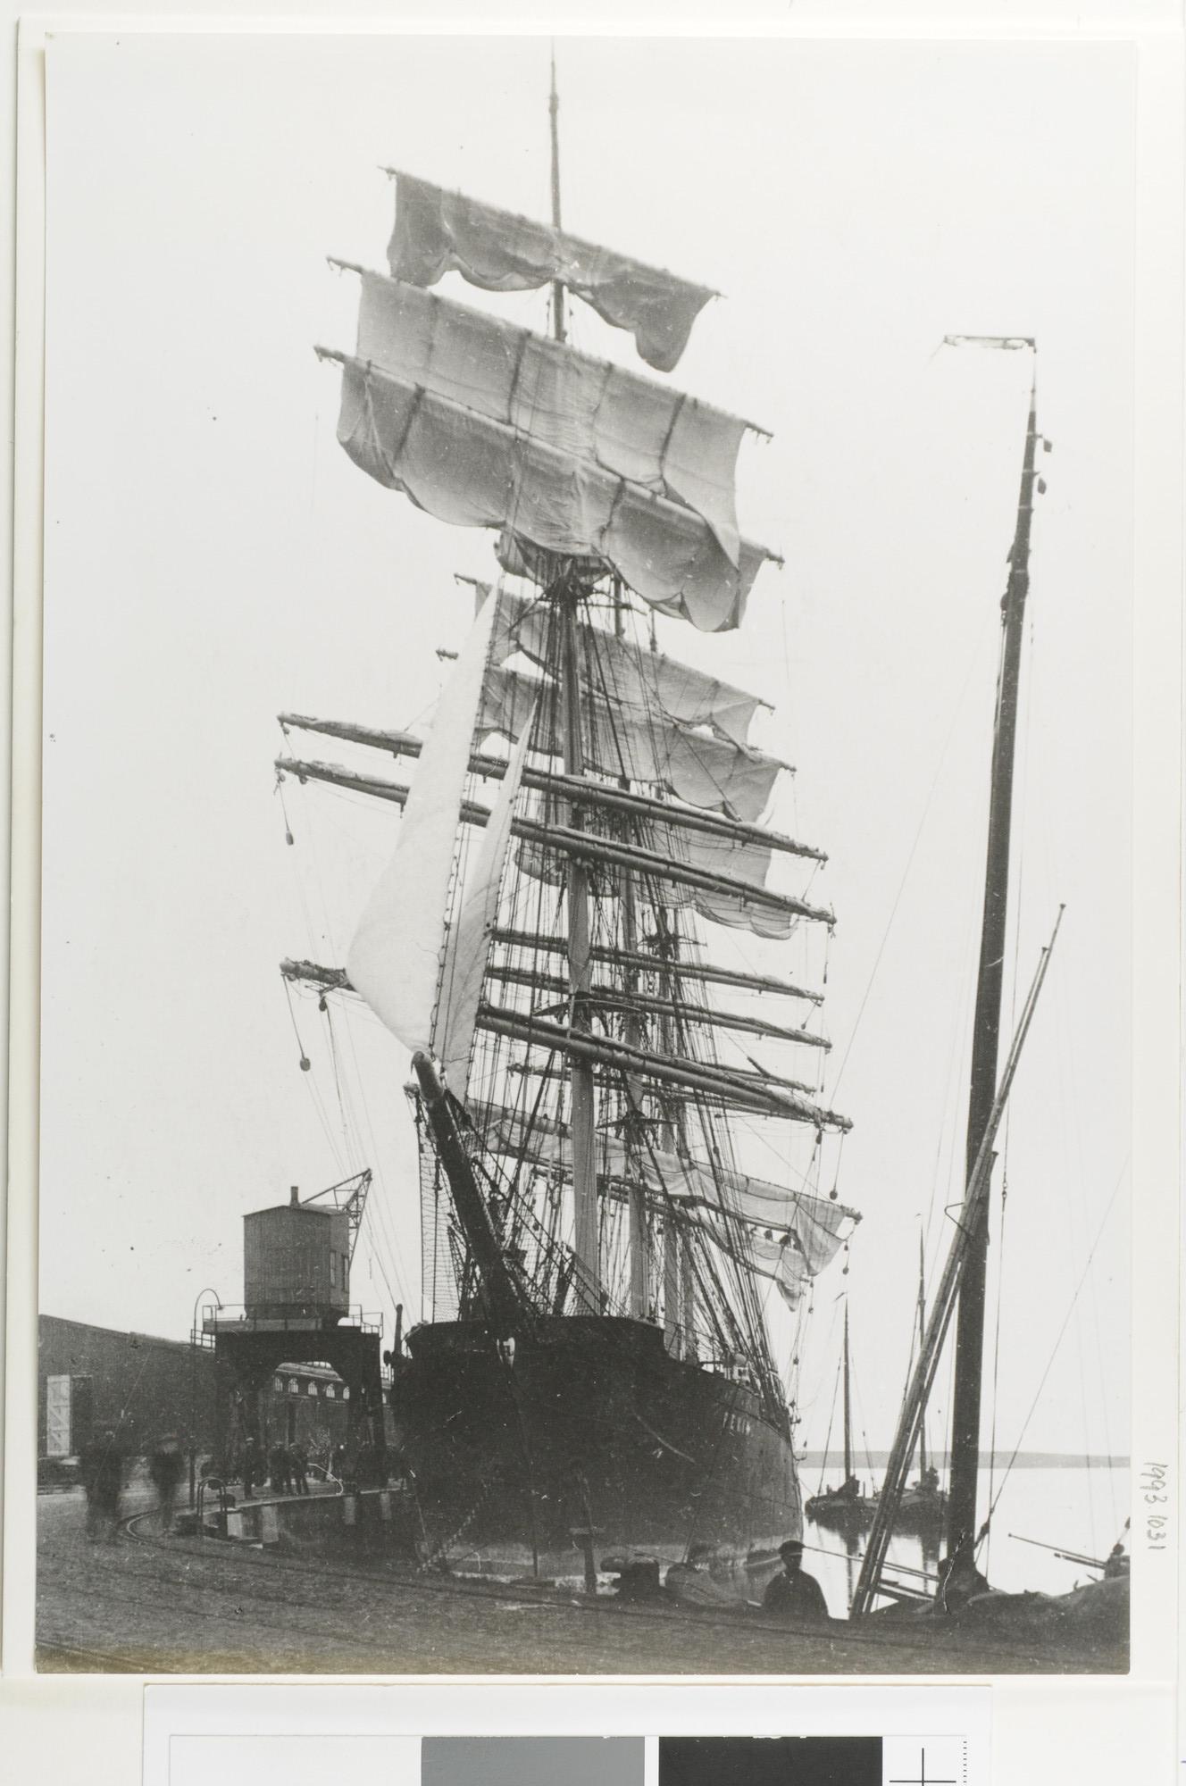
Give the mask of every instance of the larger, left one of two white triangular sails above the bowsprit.
[(432, 1043), (448, 882), (493, 623), (495, 604), (486, 602), (438, 702), (395, 855), (347, 956), (355, 991), (409, 1048)]

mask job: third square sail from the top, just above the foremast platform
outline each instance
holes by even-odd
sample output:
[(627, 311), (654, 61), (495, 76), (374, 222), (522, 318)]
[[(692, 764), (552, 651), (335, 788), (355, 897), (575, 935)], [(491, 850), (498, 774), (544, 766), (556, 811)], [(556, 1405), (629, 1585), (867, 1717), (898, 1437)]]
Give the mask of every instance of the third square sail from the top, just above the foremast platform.
[(739, 625), (773, 555), (766, 547), (741, 539), (732, 564), (693, 509), (423, 384), (318, 352), (343, 366), (338, 439), (379, 484), (454, 527), (497, 527), (550, 557), (589, 559), (593, 573), (616, 572), (702, 632)]

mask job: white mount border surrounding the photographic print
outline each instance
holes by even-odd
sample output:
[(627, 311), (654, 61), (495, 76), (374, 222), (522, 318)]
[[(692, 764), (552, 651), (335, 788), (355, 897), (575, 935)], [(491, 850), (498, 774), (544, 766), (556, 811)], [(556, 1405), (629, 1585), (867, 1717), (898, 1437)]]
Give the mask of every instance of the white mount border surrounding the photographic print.
[[(622, 11), (622, 18), (613, 13)], [(1041, 13), (1016, 5), (916, 5), (909, 23), (893, 5), (768, 5), (731, 16), (732, 36), (786, 38), (940, 38), (1011, 41), (1118, 41), (1138, 48), (1138, 195), (1136, 195), (1136, 563), (1134, 588), (1134, 1418), (1132, 1466), (1177, 1456), (1179, 1406), (1179, 1247), (1181, 1238), (1181, 763), (1182, 763), (1182, 34), (1181, 9), (1143, 0), (1123, 9), (1054, 5)], [(827, 16), (825, 16), (827, 14)], [(602, 7), (582, 20), (572, 7), (516, 9), (514, 20), (407, 14), (348, 21), (332, 16), (202, 18), (180, 9), (143, 7), (127, 14), (100, 9), (25, 18), (20, 32), (20, 104), (16, 118), (20, 209), (14, 407), (20, 452), (13, 509), (13, 918), (9, 1057), (9, 1200), (5, 1298), (5, 1470), (4, 1470), (4, 1681), (0, 1722), (13, 1763), (34, 1765), (30, 1777), (130, 1781), (139, 1756), (143, 1684), (138, 1677), (36, 1677), (32, 1666), (36, 1481), (36, 1159), (38, 1159), (38, 979), (39, 979), (39, 679), (41, 679), (41, 364), (45, 220), (41, 54), (48, 36), (68, 30), (218, 30), (218, 32), (402, 32), (450, 30), (518, 34), (713, 34), (720, 7), (652, 5), (645, 14)], [(7, 82), (9, 91), (13, 80)], [(9, 191), (5, 189), (5, 204)], [(1177, 1497), (1177, 1484), (1175, 1484)], [(1140, 1511), (1140, 1509), (1138, 1509)], [(1150, 1570), (1140, 1561), (1134, 1522), (1132, 1670), (1125, 1681), (1002, 1679), (993, 1690), (995, 1773), (1023, 1782), (1041, 1768), (1075, 1781), (1152, 1779), (1173, 1745), (1179, 1579), (1173, 1547)], [(325, 1690), (338, 1686), (323, 1682)], [(564, 1682), (502, 1684), (511, 1716), (541, 1727)], [(813, 1688), (816, 1682), (813, 1682)], [(916, 1691), (925, 1686), (913, 1682)], [(461, 1677), (450, 1691), (468, 1695)], [(872, 1682), (845, 1682), (857, 1697)], [(407, 1686), (420, 1700), (429, 1681)], [(636, 1691), (611, 1679), (584, 1681), (595, 1695), (586, 1729), (618, 1729), (622, 1695)], [(681, 1682), (679, 1731), (702, 1686)], [(797, 1688), (797, 1695), (807, 1688)], [(727, 1704), (741, 1711), (750, 1695), (770, 1695), (777, 1713), (786, 1684), (731, 1682)], [(461, 1704), (461, 1700), (457, 1698)], [(752, 1715), (752, 1713), (750, 1713)], [(775, 1716), (777, 1725), (777, 1716)], [(734, 1725), (736, 1729), (736, 1725)], [(745, 1729), (745, 1725), (741, 1727)], [(1056, 1761), (1057, 1754), (1057, 1761)], [(1043, 1763), (1045, 1756), (1045, 1763)], [(73, 1757), (68, 1761), (66, 1757)], [(1009, 1766), (1006, 1761), (1011, 1757)]]

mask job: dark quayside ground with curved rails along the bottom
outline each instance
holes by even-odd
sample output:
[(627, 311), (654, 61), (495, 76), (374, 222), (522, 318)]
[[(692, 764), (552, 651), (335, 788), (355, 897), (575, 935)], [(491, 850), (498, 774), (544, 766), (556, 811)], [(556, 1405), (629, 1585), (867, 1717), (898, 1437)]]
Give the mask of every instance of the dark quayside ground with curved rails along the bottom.
[[(136, 1502), (125, 1507), (134, 1513)], [(80, 1491), (38, 1504), (38, 1663), (134, 1673), (1104, 1673), (1111, 1648), (929, 1622), (770, 1625), (418, 1573), (296, 1563), (132, 1518), (86, 1538)]]

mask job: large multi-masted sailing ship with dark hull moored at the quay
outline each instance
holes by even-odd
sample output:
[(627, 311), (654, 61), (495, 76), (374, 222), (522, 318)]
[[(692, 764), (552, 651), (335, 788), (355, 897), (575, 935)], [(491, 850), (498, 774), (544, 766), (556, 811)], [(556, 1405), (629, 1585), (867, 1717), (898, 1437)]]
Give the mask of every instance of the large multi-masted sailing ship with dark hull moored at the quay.
[[(763, 702), (656, 636), (656, 614), (739, 627), (773, 557), (736, 520), (752, 425), (568, 341), (582, 302), (668, 373), (713, 293), (561, 227), (555, 89), (547, 225), (388, 171), (388, 270), (350, 266), (355, 350), (318, 348), (338, 439), (436, 520), (491, 529), (500, 572), (427, 736), (282, 714), (277, 768), (402, 807), (345, 968), (282, 972), (411, 1050), (425, 1318), (393, 1409), (420, 1554), (707, 1557), (752, 1595), (802, 1531), (764, 1302), (798, 1309), (859, 1220), (825, 1189), (848, 1129), (822, 1095), (825, 855), (764, 822), (788, 766), (752, 743)], [(550, 330), (445, 275), (548, 293)], [(416, 770), (300, 757), (293, 734)], [(791, 970), (738, 964), (736, 936)]]

